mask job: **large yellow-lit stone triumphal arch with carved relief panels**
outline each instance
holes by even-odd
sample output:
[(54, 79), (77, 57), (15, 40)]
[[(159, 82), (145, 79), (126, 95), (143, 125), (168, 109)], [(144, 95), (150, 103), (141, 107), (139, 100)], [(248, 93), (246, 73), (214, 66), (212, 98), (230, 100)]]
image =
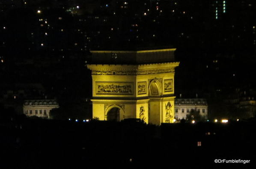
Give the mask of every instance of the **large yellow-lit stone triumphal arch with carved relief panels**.
[(179, 66), (179, 62), (173, 62), (174, 52), (91, 51), (95, 64), (87, 67), (92, 71), (93, 117), (173, 123), (174, 69)]

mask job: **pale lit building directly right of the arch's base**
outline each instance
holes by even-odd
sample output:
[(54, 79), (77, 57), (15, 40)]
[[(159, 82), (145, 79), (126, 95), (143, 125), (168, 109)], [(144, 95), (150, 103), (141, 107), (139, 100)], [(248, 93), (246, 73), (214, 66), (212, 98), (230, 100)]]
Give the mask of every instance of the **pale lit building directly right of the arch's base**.
[(207, 119), (208, 104), (206, 99), (186, 99), (180, 98), (174, 100), (174, 118), (176, 120), (186, 119), (191, 112), (199, 112), (199, 114)]

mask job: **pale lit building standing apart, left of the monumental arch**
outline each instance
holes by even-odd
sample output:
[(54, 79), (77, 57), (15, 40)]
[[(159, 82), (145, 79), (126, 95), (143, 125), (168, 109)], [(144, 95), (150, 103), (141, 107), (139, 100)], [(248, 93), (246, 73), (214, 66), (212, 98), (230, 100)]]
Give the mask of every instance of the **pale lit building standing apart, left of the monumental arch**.
[(51, 109), (58, 108), (56, 100), (25, 100), (23, 112), (27, 116), (37, 116), (49, 118)]

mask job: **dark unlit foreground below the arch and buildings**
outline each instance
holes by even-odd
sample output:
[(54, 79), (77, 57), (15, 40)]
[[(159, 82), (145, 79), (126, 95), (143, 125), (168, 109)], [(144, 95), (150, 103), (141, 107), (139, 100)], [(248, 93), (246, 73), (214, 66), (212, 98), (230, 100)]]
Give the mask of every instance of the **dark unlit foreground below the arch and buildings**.
[[(250, 160), (250, 163), (215, 163)], [(256, 123), (0, 122), (0, 168), (252, 168)]]

